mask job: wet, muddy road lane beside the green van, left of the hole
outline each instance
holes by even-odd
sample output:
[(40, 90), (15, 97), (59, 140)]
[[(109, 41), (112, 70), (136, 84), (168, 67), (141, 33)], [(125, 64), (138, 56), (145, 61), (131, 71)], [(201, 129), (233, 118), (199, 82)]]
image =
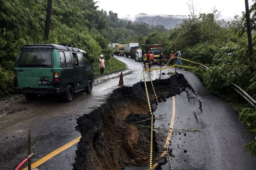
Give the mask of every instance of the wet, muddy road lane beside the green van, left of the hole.
[[(132, 86), (140, 81), (143, 63), (131, 58), (117, 57), (126, 61), (124, 83)], [(107, 66), (106, 66), (107, 67)], [(113, 89), (119, 88), (119, 73), (107, 75), (108, 80), (93, 86), (91, 94), (76, 94), (70, 103), (62, 103), (52, 97), (37, 98), (26, 103), (26, 111), (6, 115), (0, 119), (0, 169), (15, 169), (27, 157), (27, 131), (31, 129), (32, 163), (80, 136), (75, 130), (76, 118), (89, 113), (105, 102)], [(38, 169), (72, 169), (76, 145), (49, 159)]]

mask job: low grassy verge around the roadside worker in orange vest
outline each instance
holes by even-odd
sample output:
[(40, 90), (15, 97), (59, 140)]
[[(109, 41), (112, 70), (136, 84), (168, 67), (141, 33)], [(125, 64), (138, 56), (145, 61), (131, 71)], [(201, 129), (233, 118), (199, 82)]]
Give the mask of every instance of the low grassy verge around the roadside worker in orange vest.
[[(124, 70), (124, 69), (126, 69), (125, 63), (117, 60), (114, 57), (111, 57), (109, 60), (105, 60), (104, 74), (107, 74), (110, 72), (116, 72), (116, 71)], [(100, 68), (99, 68), (98, 61), (95, 61), (95, 64), (94, 64), (94, 75), (95, 76), (100, 75)]]

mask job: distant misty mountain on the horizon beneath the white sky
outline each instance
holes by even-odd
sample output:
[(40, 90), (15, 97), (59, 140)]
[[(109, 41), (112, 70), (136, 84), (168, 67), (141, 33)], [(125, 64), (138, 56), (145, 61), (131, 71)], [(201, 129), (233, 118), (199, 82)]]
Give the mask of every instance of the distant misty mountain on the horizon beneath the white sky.
[(166, 29), (173, 29), (179, 27), (179, 25), (186, 19), (185, 15), (148, 15), (148, 14), (138, 14), (135, 16), (127, 15), (122, 17), (125, 20), (130, 21), (142, 21), (154, 26), (162, 25)]

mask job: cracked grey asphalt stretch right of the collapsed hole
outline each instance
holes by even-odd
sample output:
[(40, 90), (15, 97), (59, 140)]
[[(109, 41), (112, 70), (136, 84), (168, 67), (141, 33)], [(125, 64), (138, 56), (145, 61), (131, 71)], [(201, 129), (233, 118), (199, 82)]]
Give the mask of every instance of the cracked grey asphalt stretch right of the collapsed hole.
[[(169, 148), (175, 156), (171, 157), (173, 169), (255, 170), (256, 156), (244, 153), (244, 146), (254, 137), (244, 133), (246, 126), (239, 122), (238, 114), (222, 99), (205, 90), (194, 74), (183, 70), (179, 72), (184, 74), (195, 92), (187, 88), (187, 91), (175, 96), (173, 129), (196, 129), (201, 132), (172, 132)], [(155, 127), (169, 128), (172, 106), (173, 98), (160, 103), (165, 115), (164, 123), (158, 118)], [(159, 114), (159, 109), (155, 114)], [(162, 130), (157, 131), (157, 134), (162, 133)], [(170, 169), (169, 162), (162, 169)]]

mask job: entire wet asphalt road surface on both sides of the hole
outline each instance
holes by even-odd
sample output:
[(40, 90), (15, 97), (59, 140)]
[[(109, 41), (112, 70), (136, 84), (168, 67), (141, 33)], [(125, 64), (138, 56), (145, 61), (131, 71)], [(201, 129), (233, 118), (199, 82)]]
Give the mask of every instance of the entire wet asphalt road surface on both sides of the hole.
[[(139, 82), (143, 63), (135, 62), (131, 58), (116, 57), (127, 64), (124, 84), (132, 86)], [(173, 71), (174, 68), (164, 72), (167, 73), (168, 70)], [(193, 128), (202, 132), (186, 132), (186, 136), (184, 133), (179, 135), (178, 132), (176, 135), (176, 132), (173, 132), (171, 148), (176, 156), (172, 158), (173, 167), (255, 169), (255, 156), (251, 157), (250, 153), (244, 153), (244, 145), (251, 141), (253, 136), (243, 135), (245, 125), (238, 121), (238, 115), (224, 101), (205, 90), (194, 74), (179, 69), (178, 72), (184, 73), (196, 94), (187, 90), (175, 96), (174, 128)], [(159, 71), (153, 71), (152, 77), (159, 78)], [(161, 76), (161, 78), (167, 77), (169, 75)], [(146, 79), (149, 80), (148, 77)], [(70, 103), (61, 103), (54, 98), (39, 98), (26, 103), (27, 110), (0, 118), (0, 169), (14, 169), (27, 156), (28, 128), (32, 131), (31, 150), (35, 153), (32, 162), (79, 137), (80, 133), (75, 130), (76, 118), (99, 107), (113, 89), (119, 88), (117, 86), (119, 73), (106, 76), (106, 81), (102, 77), (99, 80), (102, 83), (94, 85), (91, 94), (77, 94)], [(163, 110), (167, 109), (165, 112), (169, 113), (164, 122), (165, 126), (168, 126), (172, 114), (172, 98), (161, 103), (161, 107)], [(156, 123), (161, 125), (162, 122), (156, 121)], [(179, 149), (176, 145), (180, 146)], [(184, 153), (183, 149), (187, 152)], [(75, 150), (76, 145), (73, 145), (37, 168), (72, 169)], [(168, 169), (168, 164), (163, 168)]]

